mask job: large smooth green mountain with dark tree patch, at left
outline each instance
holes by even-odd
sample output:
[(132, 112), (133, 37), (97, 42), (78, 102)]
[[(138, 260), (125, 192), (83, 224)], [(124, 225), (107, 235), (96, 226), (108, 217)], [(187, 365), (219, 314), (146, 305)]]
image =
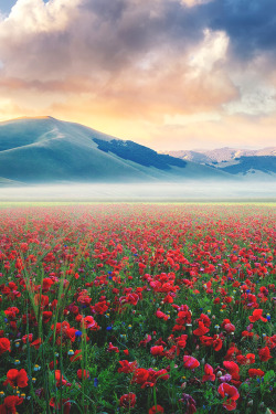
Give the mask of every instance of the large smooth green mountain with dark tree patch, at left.
[(212, 167), (52, 117), (0, 124), (0, 177), (23, 183), (229, 179)]

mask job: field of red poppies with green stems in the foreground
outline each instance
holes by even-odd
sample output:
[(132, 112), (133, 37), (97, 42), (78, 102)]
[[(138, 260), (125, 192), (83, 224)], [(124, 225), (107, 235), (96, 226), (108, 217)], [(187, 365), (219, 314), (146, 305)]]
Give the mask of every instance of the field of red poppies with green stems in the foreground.
[(0, 209), (0, 413), (274, 413), (275, 213)]

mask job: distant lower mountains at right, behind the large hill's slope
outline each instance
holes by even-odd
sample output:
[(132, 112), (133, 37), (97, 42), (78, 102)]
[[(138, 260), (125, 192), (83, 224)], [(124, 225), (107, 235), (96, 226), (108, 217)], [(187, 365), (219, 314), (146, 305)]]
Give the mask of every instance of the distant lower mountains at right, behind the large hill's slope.
[(171, 157), (215, 167), (217, 170), (235, 176), (254, 178), (275, 178), (276, 147), (257, 150), (217, 148), (213, 150), (167, 151)]

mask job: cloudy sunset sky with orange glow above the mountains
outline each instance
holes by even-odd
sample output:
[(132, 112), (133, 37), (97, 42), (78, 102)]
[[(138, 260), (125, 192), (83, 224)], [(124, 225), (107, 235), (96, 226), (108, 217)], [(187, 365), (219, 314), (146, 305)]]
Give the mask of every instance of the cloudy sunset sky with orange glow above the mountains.
[(0, 120), (157, 150), (276, 142), (275, 0), (0, 0)]

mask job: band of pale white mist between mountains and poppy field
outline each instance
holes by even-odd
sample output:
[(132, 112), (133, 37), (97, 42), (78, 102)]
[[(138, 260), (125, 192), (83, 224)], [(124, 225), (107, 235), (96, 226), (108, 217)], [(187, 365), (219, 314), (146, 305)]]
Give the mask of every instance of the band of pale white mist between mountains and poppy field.
[(2, 187), (8, 201), (275, 201), (276, 182), (184, 181), (158, 183), (68, 183)]

